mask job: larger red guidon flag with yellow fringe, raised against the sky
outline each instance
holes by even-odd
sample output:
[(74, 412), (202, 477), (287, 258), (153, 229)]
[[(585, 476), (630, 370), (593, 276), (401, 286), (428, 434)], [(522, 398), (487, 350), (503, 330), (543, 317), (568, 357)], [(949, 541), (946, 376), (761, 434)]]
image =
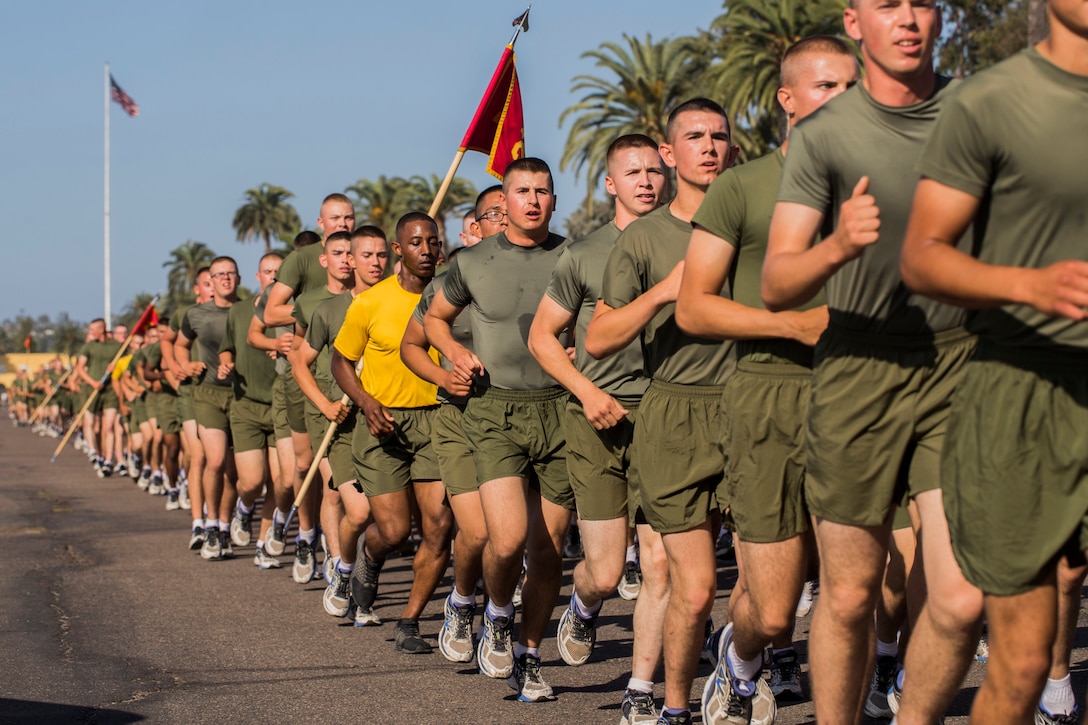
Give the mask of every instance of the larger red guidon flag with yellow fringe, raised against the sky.
[(480, 100), (460, 150), (487, 155), (487, 172), (503, 177), (506, 167), (526, 155), (526, 122), (521, 112), (521, 87), (514, 46), (506, 46), (487, 93)]

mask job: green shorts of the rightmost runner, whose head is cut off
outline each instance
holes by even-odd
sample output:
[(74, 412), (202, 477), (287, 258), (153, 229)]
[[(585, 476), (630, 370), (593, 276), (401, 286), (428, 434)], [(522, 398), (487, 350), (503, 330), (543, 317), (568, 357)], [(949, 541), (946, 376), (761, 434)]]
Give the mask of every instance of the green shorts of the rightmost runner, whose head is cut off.
[(944, 513), (964, 577), (1026, 592), (1088, 550), (1088, 351), (979, 344), (952, 401)]

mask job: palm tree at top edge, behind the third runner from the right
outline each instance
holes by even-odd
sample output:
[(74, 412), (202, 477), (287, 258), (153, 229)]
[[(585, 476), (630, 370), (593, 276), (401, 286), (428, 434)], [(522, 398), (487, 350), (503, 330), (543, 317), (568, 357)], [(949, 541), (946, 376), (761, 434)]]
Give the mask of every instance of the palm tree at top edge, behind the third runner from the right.
[(846, 0), (729, 0), (700, 45), (714, 60), (702, 81), (737, 120), (734, 139), (752, 158), (786, 137), (778, 106), (786, 51), (811, 35), (841, 35)]

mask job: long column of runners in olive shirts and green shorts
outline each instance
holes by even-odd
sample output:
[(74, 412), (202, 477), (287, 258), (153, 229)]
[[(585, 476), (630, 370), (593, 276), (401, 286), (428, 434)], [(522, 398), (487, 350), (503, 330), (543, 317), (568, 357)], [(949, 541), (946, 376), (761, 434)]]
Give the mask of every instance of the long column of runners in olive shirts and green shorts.
[[(932, 70), (935, 3), (855, 0), (862, 82), (842, 41), (795, 44), (789, 140), (735, 168), (707, 99), (675, 108), (662, 143), (617, 138), (615, 218), (576, 243), (551, 231), (540, 159), (480, 195), (437, 277), (431, 218), (399, 220), (386, 277), (381, 230), (330, 195), (322, 237), (261, 259), (256, 304), (237, 302), (233, 259), (201, 271), (198, 304), (113, 369), (84, 446), (101, 476), (135, 458), (140, 488), (191, 511), (207, 560), (249, 545), (263, 495), (255, 563), (271, 568), (335, 423), (298, 508), (295, 580), (317, 576), (320, 530), (325, 611), (380, 624), (383, 564), (415, 521), (396, 649), (431, 651), (419, 617), (453, 549), (438, 649), (524, 701), (553, 697), (539, 648), (577, 512), (557, 644), (583, 664), (604, 600), (638, 597), (622, 724), (691, 722), (704, 649), (703, 722), (774, 722), (776, 697), (802, 692), (793, 622), (817, 568), (820, 722), (938, 722), (976, 653), (975, 722), (1076, 722), (1088, 11), (1048, 12), (1048, 40), (954, 83)], [(97, 388), (126, 333), (91, 323), (70, 379)], [(707, 638), (722, 523), (740, 578)]]

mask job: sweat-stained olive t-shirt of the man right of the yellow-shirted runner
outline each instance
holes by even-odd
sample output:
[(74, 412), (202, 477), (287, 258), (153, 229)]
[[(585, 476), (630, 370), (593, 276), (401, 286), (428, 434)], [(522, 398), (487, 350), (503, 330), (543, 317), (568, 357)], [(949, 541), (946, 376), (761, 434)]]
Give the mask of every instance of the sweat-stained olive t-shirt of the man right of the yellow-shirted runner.
[(519, 247), (506, 233), (458, 253), (443, 286), (446, 299), (472, 310), (472, 344), (484, 366), (479, 385), (504, 390), (556, 388), (529, 353), (529, 328), (567, 239)]

